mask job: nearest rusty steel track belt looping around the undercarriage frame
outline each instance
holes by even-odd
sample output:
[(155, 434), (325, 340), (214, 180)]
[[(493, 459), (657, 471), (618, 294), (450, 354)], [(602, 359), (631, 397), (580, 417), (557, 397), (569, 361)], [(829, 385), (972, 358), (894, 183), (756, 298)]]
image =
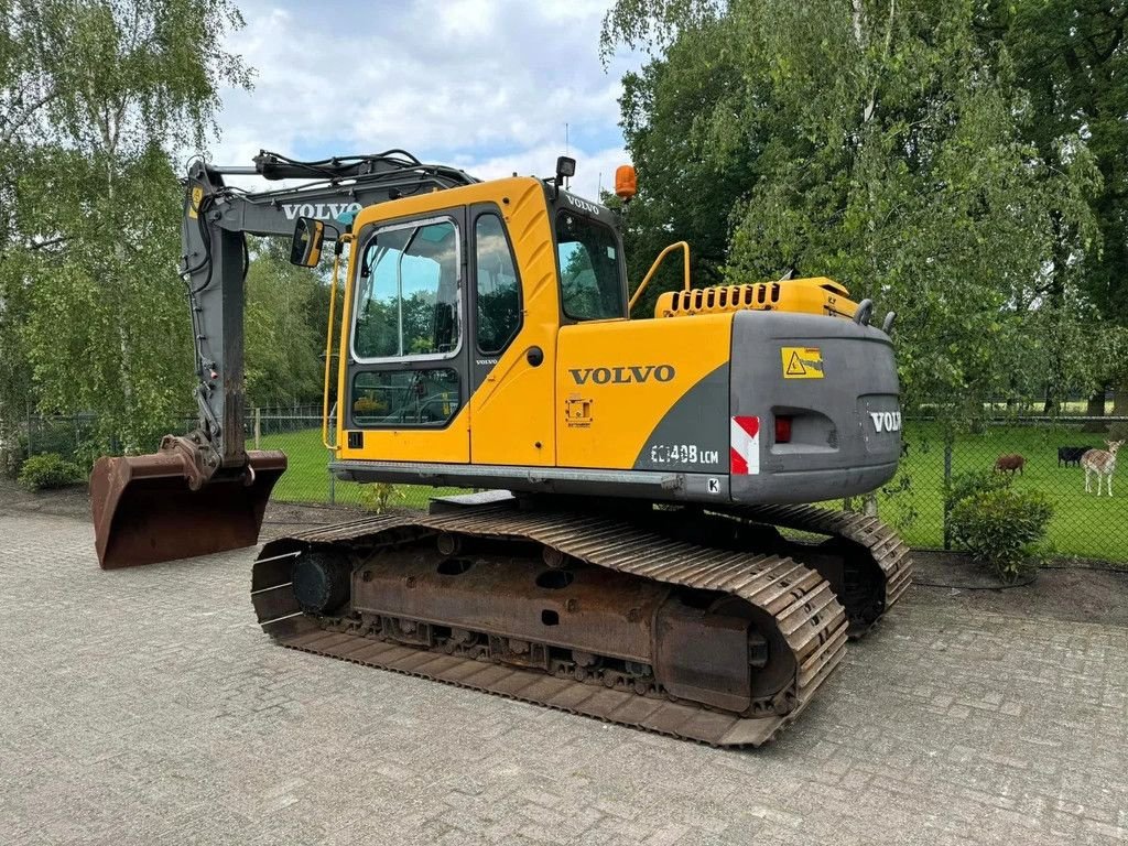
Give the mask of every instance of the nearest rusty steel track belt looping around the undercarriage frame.
[[(670, 700), (656, 689), (624, 689), (610, 676), (578, 680), (497, 663), (481, 653), (451, 654), (449, 643), (428, 649), (376, 640), (347, 616), (299, 610), (291, 571), (302, 553), (347, 550), (355, 566), (378, 569), (381, 552), (424, 544), (432, 548), (440, 536), (536, 545), (546, 555), (638, 580), (737, 597), (774, 620), (773, 636), (785, 644), (794, 669), (770, 702), (733, 713), (686, 698)], [(529, 566), (545, 565), (530, 556)], [(618, 519), (523, 512), (512, 504), (387, 514), (271, 541), (255, 563), (252, 599), (263, 629), (283, 646), (715, 746), (759, 746), (793, 722), (841, 660), (847, 636), (846, 614), (830, 585), (791, 558), (675, 541)], [(615, 651), (608, 644), (608, 653)]]

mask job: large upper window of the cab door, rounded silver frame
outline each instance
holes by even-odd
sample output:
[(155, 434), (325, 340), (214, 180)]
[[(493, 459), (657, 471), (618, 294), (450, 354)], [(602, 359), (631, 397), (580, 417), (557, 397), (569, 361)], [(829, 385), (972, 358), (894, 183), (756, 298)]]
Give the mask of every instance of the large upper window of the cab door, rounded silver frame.
[(369, 239), (356, 287), (356, 359), (458, 350), (458, 227), (446, 218), (388, 227)]

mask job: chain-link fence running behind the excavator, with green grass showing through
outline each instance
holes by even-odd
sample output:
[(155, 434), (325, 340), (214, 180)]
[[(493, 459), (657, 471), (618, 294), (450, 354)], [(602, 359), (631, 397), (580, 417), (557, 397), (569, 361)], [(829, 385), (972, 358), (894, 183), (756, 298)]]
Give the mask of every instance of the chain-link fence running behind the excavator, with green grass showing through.
[[(28, 416), (23, 434), (25, 451), (81, 456), (92, 438), (94, 423), (90, 415)], [(186, 416), (178, 429), (187, 432), (194, 425), (195, 418)], [(274, 488), (276, 501), (371, 510), (424, 509), (437, 492), (460, 492), (338, 482), (327, 468), (320, 425), (319, 406), (256, 408), (247, 415), (248, 448), (277, 449), (289, 458), (289, 469)], [(1128, 452), (1121, 462), (1125, 474), (1102, 475), (1098, 495), (1098, 476), (1091, 469), (1086, 490), (1085, 452), (1108, 450), (1112, 438), (1108, 431), (1086, 430), (1110, 428), (1122, 437), (1119, 432), (1128, 429), (1128, 417), (1011, 416), (951, 440), (938, 421), (907, 418), (900, 468), (878, 492), (878, 512), (911, 546), (950, 548), (946, 487), (968, 473), (1005, 475), (1015, 490), (1038, 492), (1050, 503), (1052, 517), (1043, 545), (1048, 556), (1128, 562)], [(841, 501), (827, 504), (843, 506)], [(855, 500), (854, 506), (861, 508), (861, 503)]]

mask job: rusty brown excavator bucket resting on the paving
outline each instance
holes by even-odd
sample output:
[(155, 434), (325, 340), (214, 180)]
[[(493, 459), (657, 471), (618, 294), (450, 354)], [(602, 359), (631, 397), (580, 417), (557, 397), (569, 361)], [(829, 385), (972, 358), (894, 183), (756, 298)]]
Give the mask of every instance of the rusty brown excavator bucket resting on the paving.
[(102, 458), (90, 474), (95, 546), (103, 570), (156, 564), (258, 543), (266, 501), (285, 453), (247, 452), (247, 464), (206, 478), (185, 439), (159, 452)]

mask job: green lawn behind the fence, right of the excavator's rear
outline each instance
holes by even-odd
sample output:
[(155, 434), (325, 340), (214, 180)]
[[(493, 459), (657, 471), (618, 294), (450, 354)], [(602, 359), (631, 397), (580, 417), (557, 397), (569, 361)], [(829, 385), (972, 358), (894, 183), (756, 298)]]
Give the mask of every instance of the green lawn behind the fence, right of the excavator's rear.
[[(1014, 477), (1020, 490), (1041, 491), (1054, 505), (1046, 545), (1059, 556), (1081, 556), (1128, 563), (1128, 473), (1117, 474), (1116, 496), (1085, 493), (1085, 472), (1058, 467), (1057, 448), (1104, 448), (1105, 435), (1082, 432), (1079, 425), (989, 426), (982, 434), (957, 438), (952, 473), (993, 469), (995, 459), (1017, 452), (1026, 459), (1023, 474)], [(943, 529), (944, 442), (940, 426), (907, 422), (905, 439), (909, 455), (900, 475), (910, 481), (904, 492), (880, 497), (881, 514), (898, 526), (911, 546), (941, 547)], [(1095, 491), (1096, 482), (1093, 481)], [(896, 483), (889, 487), (896, 488)], [(916, 515), (910, 514), (916, 511)]]

